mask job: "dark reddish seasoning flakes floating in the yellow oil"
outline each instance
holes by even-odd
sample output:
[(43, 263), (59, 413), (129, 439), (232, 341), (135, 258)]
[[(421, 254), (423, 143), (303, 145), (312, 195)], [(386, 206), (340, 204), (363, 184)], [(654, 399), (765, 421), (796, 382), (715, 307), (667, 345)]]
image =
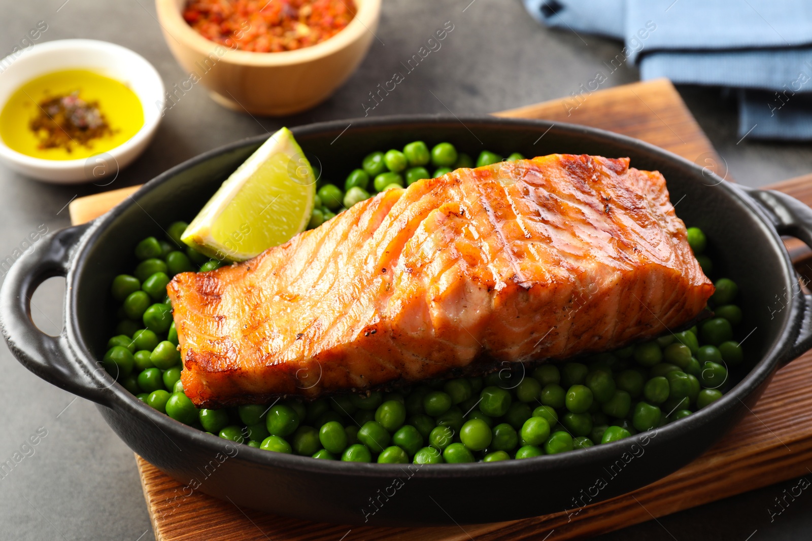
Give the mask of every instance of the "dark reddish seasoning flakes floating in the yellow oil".
[(40, 139), (39, 148), (64, 148), (81, 144), (90, 147), (94, 139), (113, 135), (97, 101), (84, 101), (79, 92), (46, 98), (29, 127)]

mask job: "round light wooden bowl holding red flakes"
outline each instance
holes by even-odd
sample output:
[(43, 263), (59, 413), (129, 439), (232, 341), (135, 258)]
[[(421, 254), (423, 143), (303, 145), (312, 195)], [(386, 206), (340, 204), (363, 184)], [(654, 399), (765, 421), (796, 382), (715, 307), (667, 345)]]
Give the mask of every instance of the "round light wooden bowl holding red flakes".
[(167, 88), (166, 109), (198, 83), (220, 105), (251, 114), (294, 114), (326, 100), (355, 71), (375, 38), (381, 0), (355, 2), (356, 16), (328, 40), (304, 49), (253, 53), (197, 33), (182, 16), (186, 0), (156, 0), (166, 44), (189, 73)]

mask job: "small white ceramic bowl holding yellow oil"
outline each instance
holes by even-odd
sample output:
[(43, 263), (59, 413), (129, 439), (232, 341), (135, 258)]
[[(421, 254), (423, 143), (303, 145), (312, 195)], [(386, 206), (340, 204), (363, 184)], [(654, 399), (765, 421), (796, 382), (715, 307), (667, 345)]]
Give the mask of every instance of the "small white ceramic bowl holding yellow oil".
[(8, 67), (0, 73), (0, 109), (15, 90), (31, 79), (67, 69), (89, 69), (127, 84), (144, 108), (144, 126), (136, 135), (89, 158), (43, 160), (11, 150), (0, 139), (0, 161), (21, 174), (46, 182), (109, 182), (144, 151), (161, 122), (161, 76), (144, 57), (121, 45), (96, 40), (46, 41), (2, 62)]

